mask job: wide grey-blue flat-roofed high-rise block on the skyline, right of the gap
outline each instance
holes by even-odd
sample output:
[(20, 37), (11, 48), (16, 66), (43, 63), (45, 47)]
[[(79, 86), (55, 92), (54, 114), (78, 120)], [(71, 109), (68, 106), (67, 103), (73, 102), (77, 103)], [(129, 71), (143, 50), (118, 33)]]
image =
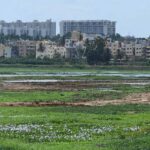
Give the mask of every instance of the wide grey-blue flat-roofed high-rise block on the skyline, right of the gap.
[(64, 20), (60, 22), (61, 36), (73, 31), (102, 36), (114, 35), (116, 33), (116, 22), (108, 20)]

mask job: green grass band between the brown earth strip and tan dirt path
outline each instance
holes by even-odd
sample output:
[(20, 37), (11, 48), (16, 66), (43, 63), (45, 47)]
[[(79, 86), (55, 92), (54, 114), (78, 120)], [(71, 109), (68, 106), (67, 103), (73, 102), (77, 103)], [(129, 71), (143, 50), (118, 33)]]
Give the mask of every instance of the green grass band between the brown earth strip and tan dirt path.
[(0, 91), (0, 102), (77, 102), (90, 100), (121, 99), (132, 93), (149, 92), (150, 87), (133, 87), (130, 85), (114, 85), (114, 91), (101, 89), (85, 89), (79, 91)]

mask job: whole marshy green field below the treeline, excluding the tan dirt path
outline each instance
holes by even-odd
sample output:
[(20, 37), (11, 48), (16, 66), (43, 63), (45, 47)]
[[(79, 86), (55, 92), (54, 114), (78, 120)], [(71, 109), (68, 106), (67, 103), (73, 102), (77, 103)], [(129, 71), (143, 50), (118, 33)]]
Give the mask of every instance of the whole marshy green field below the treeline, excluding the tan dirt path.
[[(119, 68), (108, 70), (103, 67), (0, 66), (0, 75), (61, 72), (150, 74), (148, 69), (139, 71), (136, 69), (119, 70)], [(10, 85), (5, 83), (9, 80), (22, 79), (86, 80), (94, 86), (74, 83), (70, 87), (69, 83), (59, 83), (60, 87), (70, 88), (58, 90), (47, 87), (43, 90), (19, 90), (20, 86), (25, 88), (25, 84), (17, 86), (12, 84), (11, 87), (16, 86), (18, 89), (9, 89)], [(149, 77), (117, 75), (0, 76), (0, 103), (122, 100), (132, 94), (149, 93), (150, 84), (138, 85), (138, 83), (149, 83), (149, 79)], [(98, 82), (101, 84), (96, 86)], [(137, 83), (137, 85), (123, 84), (128, 82)], [(57, 87), (57, 84), (52, 84), (51, 87)], [(36, 88), (47, 86), (40, 83), (29, 85), (36, 85)], [(150, 105), (148, 104), (101, 107), (0, 107), (0, 150), (150, 150), (149, 118)]]

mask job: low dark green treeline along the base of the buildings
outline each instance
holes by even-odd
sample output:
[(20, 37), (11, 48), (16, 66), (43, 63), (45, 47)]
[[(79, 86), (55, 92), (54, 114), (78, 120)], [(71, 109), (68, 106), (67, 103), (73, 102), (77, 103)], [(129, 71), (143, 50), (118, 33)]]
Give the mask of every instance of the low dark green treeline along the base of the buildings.
[(64, 59), (64, 58), (44, 58), (44, 59), (33, 59), (33, 58), (0, 58), (0, 64), (24, 64), (24, 65), (94, 65), (94, 66), (103, 66), (103, 65), (136, 65), (136, 66), (149, 66), (150, 60), (145, 62), (143, 61), (125, 61), (125, 62), (116, 62), (116, 61), (109, 61), (109, 62), (100, 62), (98, 64), (95, 63), (88, 63), (86, 59)]

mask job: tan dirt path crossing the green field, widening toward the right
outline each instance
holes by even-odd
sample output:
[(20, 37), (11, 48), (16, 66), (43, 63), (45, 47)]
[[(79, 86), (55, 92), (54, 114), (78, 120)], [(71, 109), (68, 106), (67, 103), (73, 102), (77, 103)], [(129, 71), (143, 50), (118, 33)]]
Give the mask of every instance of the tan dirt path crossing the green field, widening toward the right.
[(150, 93), (132, 94), (118, 100), (95, 100), (86, 102), (3, 102), (0, 106), (44, 107), (44, 106), (105, 106), (121, 104), (150, 104)]

